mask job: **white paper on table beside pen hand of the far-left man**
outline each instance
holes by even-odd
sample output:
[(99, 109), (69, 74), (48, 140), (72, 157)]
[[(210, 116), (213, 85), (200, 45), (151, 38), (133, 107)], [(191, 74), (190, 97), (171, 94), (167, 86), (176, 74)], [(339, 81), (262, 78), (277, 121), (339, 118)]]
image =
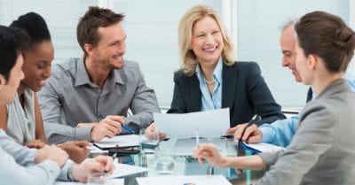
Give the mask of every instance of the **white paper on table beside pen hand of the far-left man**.
[(117, 161), (114, 160), (114, 173), (112, 173), (111, 177), (118, 178), (118, 177), (123, 177), (134, 173), (143, 173), (148, 170), (149, 169), (146, 167), (125, 165), (122, 163), (117, 163)]

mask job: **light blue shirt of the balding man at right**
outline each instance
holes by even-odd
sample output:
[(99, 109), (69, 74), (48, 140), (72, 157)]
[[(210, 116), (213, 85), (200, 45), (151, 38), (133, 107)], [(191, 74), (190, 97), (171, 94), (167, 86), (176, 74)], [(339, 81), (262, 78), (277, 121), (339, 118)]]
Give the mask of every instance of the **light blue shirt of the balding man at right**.
[[(348, 70), (344, 74), (344, 79), (348, 82), (350, 89), (355, 91), (355, 73)], [(315, 98), (313, 90), (313, 99)], [(263, 133), (263, 143), (272, 143), (282, 147), (287, 147), (291, 143), (292, 137), (298, 127), (298, 115), (289, 119), (282, 119), (272, 124), (263, 124), (260, 131)]]

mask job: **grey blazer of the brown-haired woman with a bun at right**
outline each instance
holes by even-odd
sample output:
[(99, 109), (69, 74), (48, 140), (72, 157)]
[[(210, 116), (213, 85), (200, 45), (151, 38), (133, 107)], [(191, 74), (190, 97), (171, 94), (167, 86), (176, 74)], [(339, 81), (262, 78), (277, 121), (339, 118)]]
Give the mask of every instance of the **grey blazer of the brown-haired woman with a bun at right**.
[(346, 81), (329, 84), (305, 105), (287, 150), (259, 154), (270, 171), (258, 184), (355, 184), (354, 112)]

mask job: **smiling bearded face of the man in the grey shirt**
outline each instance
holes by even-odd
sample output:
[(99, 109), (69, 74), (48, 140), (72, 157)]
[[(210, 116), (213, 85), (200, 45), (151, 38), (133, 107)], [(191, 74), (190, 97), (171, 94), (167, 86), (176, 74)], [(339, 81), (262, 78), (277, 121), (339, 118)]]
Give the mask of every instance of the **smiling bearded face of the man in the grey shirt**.
[(97, 46), (88, 50), (89, 57), (98, 65), (109, 69), (120, 69), (123, 55), (126, 52), (126, 34), (122, 24), (116, 23), (109, 27), (99, 27), (100, 41)]

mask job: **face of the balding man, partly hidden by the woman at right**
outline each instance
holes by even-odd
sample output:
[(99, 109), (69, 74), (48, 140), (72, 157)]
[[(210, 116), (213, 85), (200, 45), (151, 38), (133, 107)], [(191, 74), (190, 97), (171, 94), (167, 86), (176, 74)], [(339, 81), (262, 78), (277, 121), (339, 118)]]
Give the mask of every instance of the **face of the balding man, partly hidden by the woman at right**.
[(296, 36), (291, 25), (283, 30), (280, 37), (280, 46), (283, 55), (281, 65), (291, 70), (295, 76), (295, 81), (301, 82), (301, 76), (296, 70)]

